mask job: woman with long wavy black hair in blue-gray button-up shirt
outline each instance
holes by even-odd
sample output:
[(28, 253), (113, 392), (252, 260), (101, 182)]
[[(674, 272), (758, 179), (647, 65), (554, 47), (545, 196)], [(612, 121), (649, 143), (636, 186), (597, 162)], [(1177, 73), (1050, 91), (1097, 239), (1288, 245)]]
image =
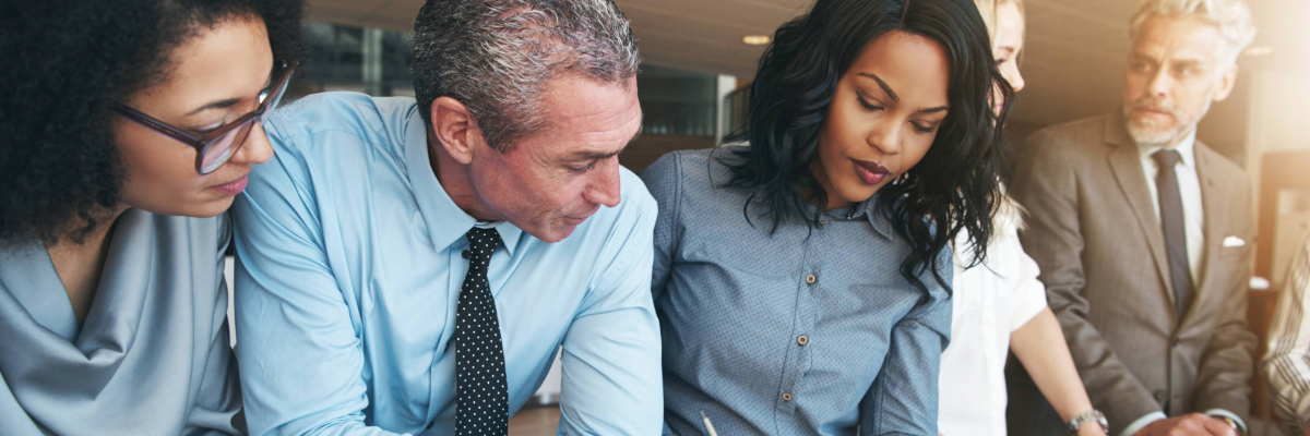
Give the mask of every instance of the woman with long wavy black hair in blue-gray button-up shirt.
[(950, 244), (981, 262), (1002, 198), (997, 82), (971, 0), (819, 0), (777, 30), (748, 144), (642, 175), (665, 433), (937, 435)]

